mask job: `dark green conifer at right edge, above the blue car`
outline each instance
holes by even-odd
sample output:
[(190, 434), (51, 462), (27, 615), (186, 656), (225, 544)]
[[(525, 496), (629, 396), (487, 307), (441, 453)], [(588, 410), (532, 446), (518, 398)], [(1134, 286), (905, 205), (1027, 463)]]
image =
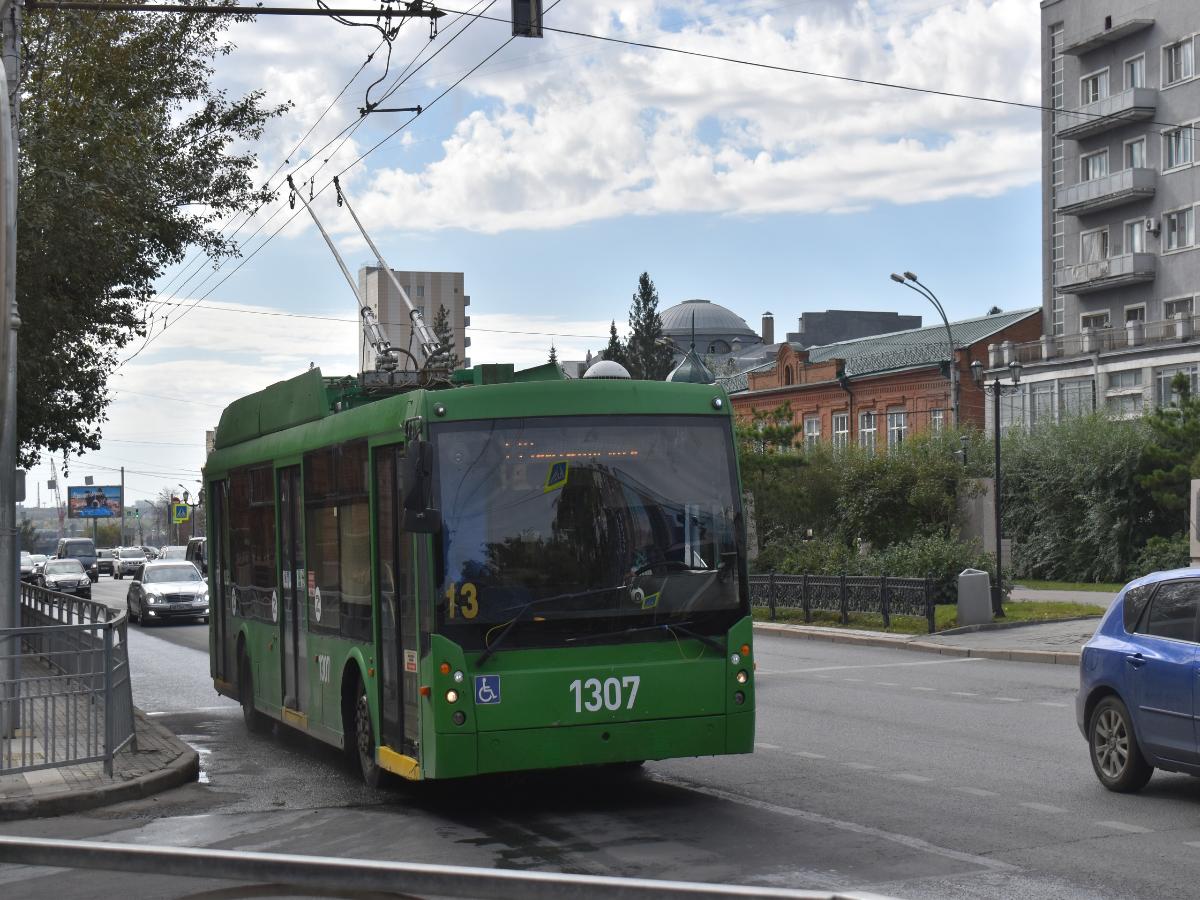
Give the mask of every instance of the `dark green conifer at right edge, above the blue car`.
[(1152, 436), (1141, 457), (1138, 485), (1153, 500), (1154, 532), (1187, 532), (1190, 481), (1200, 478), (1200, 396), (1182, 372), (1171, 380), (1176, 401), (1146, 418)]

